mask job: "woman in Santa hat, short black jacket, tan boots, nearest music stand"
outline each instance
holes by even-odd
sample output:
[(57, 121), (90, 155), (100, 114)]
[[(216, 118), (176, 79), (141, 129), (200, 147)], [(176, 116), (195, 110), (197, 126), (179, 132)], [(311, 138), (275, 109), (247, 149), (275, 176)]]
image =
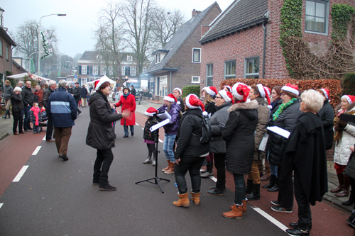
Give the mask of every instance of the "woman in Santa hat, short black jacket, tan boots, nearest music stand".
[[(178, 106), (180, 107), (180, 106)], [(179, 139), (175, 151), (175, 181), (178, 184), (179, 200), (174, 201), (174, 206), (190, 206), (185, 174), (190, 174), (192, 186), (192, 201), (200, 204), (201, 176), (200, 168), (204, 157), (209, 154), (209, 142), (201, 143), (202, 136), (202, 111), (203, 103), (195, 94), (189, 94), (185, 99), (185, 113), (182, 115)]]

